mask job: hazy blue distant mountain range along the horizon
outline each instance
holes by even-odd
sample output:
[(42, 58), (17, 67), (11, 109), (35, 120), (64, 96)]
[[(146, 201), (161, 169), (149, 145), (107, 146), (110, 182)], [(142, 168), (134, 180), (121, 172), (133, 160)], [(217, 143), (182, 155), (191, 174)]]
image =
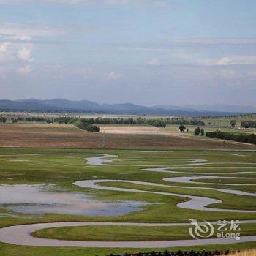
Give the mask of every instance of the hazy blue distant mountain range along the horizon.
[(68, 99), (20, 99), (0, 100), (0, 110), (30, 110), (42, 112), (83, 112), (137, 115), (187, 115), (214, 116), (230, 113), (256, 113), (256, 108), (244, 105), (188, 105), (146, 107), (132, 103), (98, 104), (89, 100), (72, 101)]

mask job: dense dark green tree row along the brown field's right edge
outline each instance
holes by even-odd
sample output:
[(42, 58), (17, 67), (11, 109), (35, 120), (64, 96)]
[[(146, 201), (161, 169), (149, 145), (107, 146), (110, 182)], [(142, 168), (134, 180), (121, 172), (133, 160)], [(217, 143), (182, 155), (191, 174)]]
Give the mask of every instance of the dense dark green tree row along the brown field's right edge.
[(214, 132), (206, 132), (207, 137), (219, 138), (223, 140), (234, 140), (244, 143), (253, 143), (256, 144), (256, 135), (254, 133), (247, 135), (245, 133), (234, 134), (232, 132), (221, 132), (219, 130)]

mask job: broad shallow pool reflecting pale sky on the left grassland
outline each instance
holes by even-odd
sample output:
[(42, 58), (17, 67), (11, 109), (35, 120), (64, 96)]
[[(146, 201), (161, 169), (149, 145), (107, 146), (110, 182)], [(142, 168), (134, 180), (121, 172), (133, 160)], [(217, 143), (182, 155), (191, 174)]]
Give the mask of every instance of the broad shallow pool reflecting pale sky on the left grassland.
[(146, 205), (139, 201), (108, 203), (92, 200), (91, 197), (79, 193), (50, 192), (53, 187), (53, 185), (0, 185), (0, 206), (28, 214), (121, 216), (139, 211)]

